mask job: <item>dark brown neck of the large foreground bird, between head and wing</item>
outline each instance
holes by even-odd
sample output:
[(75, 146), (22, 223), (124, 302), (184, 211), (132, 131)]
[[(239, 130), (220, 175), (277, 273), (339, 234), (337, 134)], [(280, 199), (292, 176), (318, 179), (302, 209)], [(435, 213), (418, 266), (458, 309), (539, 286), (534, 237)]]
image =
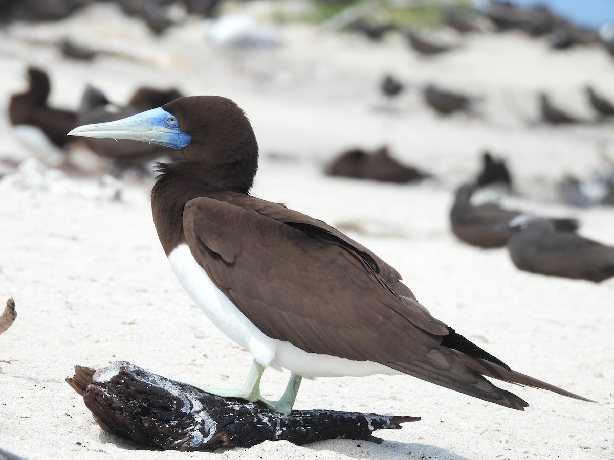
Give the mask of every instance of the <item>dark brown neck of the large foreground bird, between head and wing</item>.
[(249, 169), (239, 163), (217, 167), (198, 161), (160, 164), (162, 174), (152, 189), (152, 213), (166, 256), (185, 242), (185, 204), (191, 199), (218, 191), (247, 194), (255, 174), (255, 167), (252, 172), (248, 172)]

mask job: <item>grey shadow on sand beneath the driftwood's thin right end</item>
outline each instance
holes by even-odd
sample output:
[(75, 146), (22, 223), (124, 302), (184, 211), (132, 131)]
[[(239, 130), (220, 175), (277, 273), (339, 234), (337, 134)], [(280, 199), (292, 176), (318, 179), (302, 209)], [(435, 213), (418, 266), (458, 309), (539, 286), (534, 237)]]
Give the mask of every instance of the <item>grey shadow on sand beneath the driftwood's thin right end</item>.
[(370, 458), (386, 460), (468, 460), (443, 447), (418, 442), (398, 442), (384, 440), (381, 444), (356, 439), (332, 439), (309, 443), (303, 448), (317, 452), (335, 451), (351, 458)]

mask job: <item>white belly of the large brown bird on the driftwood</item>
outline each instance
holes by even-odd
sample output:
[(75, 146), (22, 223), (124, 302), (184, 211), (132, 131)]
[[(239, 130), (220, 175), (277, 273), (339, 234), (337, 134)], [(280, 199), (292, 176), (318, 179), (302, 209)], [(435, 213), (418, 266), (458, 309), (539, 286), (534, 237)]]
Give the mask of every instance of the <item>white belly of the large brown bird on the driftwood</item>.
[(271, 339), (260, 331), (211, 281), (196, 263), (187, 244), (168, 256), (173, 272), (192, 300), (231, 340), (248, 350), (256, 361), (274, 369), (288, 369), (304, 377), (360, 377), (371, 374), (401, 374), (371, 361), (352, 361), (337, 356), (307, 353), (289, 342)]

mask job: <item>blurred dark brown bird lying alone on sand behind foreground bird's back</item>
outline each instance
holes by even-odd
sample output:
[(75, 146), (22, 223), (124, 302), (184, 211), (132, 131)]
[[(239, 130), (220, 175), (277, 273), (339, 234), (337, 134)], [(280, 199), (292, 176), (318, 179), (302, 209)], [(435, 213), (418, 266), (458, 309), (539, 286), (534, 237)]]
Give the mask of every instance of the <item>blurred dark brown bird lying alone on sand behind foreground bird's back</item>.
[(372, 153), (360, 148), (345, 151), (328, 166), (326, 174), (394, 183), (418, 182), (430, 177), (415, 167), (398, 163), (386, 146)]

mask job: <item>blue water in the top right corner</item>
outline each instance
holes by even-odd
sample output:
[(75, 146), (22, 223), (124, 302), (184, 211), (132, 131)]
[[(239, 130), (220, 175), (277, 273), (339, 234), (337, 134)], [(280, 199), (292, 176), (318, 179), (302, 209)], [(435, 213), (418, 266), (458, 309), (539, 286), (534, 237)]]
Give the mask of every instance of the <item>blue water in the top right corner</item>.
[(614, 25), (614, 0), (516, 0), (520, 6), (545, 3), (553, 12), (585, 27), (598, 28), (605, 22)]

